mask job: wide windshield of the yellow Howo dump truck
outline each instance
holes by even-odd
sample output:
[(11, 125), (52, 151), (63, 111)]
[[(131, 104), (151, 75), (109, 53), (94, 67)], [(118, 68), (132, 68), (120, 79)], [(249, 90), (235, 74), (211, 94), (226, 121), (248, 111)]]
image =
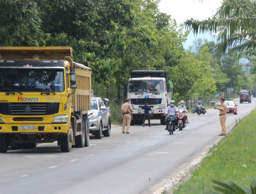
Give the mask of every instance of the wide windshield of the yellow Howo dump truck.
[(10, 69), (0, 71), (1, 91), (64, 91), (64, 69)]

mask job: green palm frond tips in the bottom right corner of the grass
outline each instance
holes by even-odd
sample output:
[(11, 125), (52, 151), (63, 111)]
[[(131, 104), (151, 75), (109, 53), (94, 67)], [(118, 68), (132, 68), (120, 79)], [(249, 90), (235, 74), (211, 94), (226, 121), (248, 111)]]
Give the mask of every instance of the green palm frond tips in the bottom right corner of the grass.
[(247, 186), (240, 186), (235, 182), (221, 182), (213, 180), (213, 183), (217, 184), (218, 186), (214, 186), (214, 190), (208, 194), (256, 194), (256, 178), (255, 176), (251, 178), (251, 188)]

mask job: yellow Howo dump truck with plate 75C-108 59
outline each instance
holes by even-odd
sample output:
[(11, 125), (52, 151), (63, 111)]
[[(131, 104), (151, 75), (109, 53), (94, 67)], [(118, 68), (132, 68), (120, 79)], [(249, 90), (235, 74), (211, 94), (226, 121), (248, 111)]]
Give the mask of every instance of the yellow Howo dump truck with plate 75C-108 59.
[(71, 47), (0, 47), (0, 152), (88, 146), (91, 74)]

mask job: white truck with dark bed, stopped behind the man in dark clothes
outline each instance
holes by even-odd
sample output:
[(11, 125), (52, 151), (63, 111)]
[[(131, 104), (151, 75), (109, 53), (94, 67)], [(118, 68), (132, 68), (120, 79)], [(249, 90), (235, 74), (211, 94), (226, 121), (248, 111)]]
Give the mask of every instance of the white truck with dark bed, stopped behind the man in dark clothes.
[(131, 98), (133, 120), (131, 125), (142, 124), (144, 110), (149, 103), (150, 118), (160, 119), (165, 125), (165, 110), (172, 100), (172, 92), (166, 71), (132, 71), (128, 81), (127, 98)]

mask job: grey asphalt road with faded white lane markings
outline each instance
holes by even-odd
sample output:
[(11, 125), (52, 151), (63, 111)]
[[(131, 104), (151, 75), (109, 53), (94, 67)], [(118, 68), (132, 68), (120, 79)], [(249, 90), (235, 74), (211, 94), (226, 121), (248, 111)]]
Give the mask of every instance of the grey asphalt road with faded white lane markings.
[[(227, 127), (251, 112), (256, 98), (251, 104), (236, 103), (238, 114), (227, 115)], [(154, 121), (150, 128), (131, 126), (130, 134), (113, 128), (110, 137), (91, 136), (89, 147), (69, 153), (62, 153), (57, 143), (0, 153), (0, 193), (153, 193), (153, 186), (180, 171), (218, 137), (218, 112), (188, 115), (190, 124), (173, 135)]]

